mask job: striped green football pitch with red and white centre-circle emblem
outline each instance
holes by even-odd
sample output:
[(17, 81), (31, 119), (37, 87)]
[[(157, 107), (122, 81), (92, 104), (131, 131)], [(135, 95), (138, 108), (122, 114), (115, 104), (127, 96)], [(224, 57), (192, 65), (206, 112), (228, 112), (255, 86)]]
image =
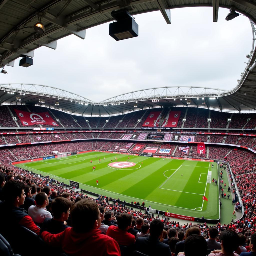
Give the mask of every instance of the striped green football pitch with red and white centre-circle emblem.
[[(128, 157), (130, 160), (126, 162)], [(145, 201), (145, 206), (151, 205), (153, 209), (168, 209), (175, 214), (215, 220), (219, 218), (219, 189), (218, 183), (217, 186), (212, 185), (211, 180), (218, 180), (218, 169), (217, 163), (213, 163), (213, 168), (211, 164), (89, 152), (16, 166), (37, 174), (48, 174), (66, 184), (69, 180), (79, 182), (80, 188), (103, 196), (120, 198), (129, 203), (139, 201), (141, 204)], [(96, 166), (94, 171), (93, 166)], [(208, 201), (202, 200), (203, 196)]]

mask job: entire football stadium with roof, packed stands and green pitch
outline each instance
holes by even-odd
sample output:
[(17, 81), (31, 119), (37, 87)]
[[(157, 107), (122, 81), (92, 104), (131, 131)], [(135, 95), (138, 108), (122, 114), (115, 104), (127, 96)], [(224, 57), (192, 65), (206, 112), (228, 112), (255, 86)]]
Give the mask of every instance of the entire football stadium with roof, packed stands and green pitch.
[(99, 101), (1, 83), (1, 255), (255, 255), (256, 3), (20, 2), (0, 1), (1, 76), (103, 23), (117, 41), (137, 37), (133, 15), (156, 10), (170, 24), (174, 8), (210, 6), (213, 22), (228, 8), (253, 37), (230, 90), (122, 88)]

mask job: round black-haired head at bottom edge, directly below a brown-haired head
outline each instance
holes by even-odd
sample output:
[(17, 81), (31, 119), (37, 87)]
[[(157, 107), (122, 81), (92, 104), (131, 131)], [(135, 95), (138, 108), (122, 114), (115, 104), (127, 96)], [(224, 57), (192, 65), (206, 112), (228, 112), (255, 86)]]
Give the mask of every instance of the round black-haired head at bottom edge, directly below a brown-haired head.
[[(186, 256), (205, 256), (207, 255), (207, 242), (204, 237), (191, 234), (184, 243), (184, 252)], [(196, 252), (196, 253), (195, 253)]]

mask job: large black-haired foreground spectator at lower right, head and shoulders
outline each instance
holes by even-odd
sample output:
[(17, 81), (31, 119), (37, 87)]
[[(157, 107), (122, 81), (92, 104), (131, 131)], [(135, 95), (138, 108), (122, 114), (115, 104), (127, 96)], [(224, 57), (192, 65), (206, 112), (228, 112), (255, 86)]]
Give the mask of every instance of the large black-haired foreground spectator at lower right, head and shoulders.
[(215, 250), (208, 256), (238, 256), (237, 253), (233, 253), (233, 251), (237, 249), (239, 244), (239, 237), (235, 231), (229, 229), (222, 231), (220, 233), (220, 241), (221, 250)]

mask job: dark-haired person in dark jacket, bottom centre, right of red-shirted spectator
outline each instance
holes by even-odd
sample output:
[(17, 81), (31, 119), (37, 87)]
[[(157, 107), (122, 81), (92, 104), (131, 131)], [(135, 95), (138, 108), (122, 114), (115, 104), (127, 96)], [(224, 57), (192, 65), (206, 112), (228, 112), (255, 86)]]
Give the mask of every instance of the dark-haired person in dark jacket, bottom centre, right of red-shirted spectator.
[(164, 223), (161, 220), (152, 220), (149, 230), (150, 236), (138, 237), (135, 242), (135, 249), (149, 256), (171, 255), (169, 246), (159, 241), (163, 234), (163, 228)]

